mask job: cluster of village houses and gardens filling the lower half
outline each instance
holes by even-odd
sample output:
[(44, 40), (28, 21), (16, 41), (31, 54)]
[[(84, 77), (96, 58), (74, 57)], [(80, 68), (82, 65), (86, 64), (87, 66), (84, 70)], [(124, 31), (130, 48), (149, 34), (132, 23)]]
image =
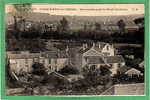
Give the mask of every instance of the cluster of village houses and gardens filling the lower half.
[[(84, 94), (83, 91), (87, 91), (85, 94), (95, 91), (95, 95), (110, 95), (103, 92), (117, 84), (123, 87), (139, 84), (144, 88), (144, 62), (140, 60), (134, 66), (127, 66), (114, 44), (83, 43), (81, 46), (66, 46), (62, 50), (53, 47), (50, 41), (46, 44), (51, 47), (44, 52), (7, 51), (10, 80), (24, 88), (22, 92), (28, 91), (28, 95), (38, 95), (41, 91), (44, 91), (43, 95), (52, 95), (53, 89), (59, 90), (58, 94), (53, 91), (55, 95), (63, 95), (66, 91), (70, 95)], [(134, 59), (133, 55), (126, 57)], [(90, 87), (98, 89), (91, 91)]]

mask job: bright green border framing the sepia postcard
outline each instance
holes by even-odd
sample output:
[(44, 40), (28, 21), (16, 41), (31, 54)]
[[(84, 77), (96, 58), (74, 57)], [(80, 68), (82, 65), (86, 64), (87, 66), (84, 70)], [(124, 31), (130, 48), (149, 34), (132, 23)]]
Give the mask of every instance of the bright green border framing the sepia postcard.
[[(6, 96), (5, 87), (5, 5), (6, 4), (144, 4), (145, 5), (145, 43), (144, 43), (144, 64), (145, 64), (145, 96)], [(149, 100), (150, 98), (150, 2), (149, 0), (0, 0), (0, 89), (2, 100)]]

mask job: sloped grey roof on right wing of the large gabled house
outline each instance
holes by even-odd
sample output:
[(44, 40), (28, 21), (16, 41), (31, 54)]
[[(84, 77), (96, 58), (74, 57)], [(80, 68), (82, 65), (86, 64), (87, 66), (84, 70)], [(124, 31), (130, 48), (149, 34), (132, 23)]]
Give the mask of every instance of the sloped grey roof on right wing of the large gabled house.
[(111, 63), (122, 63), (122, 62), (125, 62), (123, 57), (121, 55), (116, 55), (116, 56), (105, 56), (104, 57), (106, 62), (108, 64), (111, 64)]

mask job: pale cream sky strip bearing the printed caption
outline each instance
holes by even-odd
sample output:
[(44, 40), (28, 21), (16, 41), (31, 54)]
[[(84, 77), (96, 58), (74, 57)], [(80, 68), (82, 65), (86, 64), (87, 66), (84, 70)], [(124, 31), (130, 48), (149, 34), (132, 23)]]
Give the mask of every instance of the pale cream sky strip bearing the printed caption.
[[(6, 5), (6, 13), (13, 11)], [(144, 4), (32, 4), (32, 11), (50, 15), (119, 16), (144, 14)]]

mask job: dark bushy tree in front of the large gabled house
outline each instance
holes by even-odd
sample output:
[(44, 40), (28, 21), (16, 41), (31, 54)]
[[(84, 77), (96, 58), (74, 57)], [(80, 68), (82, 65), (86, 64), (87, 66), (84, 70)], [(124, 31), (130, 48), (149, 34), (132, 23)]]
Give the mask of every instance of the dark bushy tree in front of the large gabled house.
[(85, 66), (83, 68), (83, 75), (89, 85), (106, 85), (110, 81), (110, 74), (111, 72), (108, 69), (108, 66), (96, 68), (96, 66), (93, 65), (91, 67)]

